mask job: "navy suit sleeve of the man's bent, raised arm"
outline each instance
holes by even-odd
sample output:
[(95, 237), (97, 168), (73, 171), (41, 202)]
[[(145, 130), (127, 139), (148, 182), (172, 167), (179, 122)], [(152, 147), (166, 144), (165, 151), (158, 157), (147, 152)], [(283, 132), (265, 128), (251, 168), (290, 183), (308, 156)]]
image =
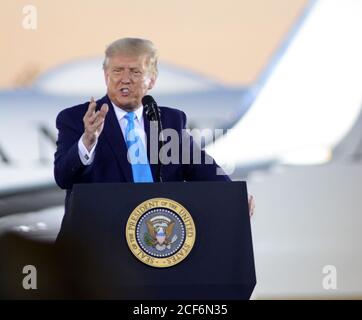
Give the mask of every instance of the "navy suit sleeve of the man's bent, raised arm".
[(78, 141), (83, 132), (70, 117), (69, 110), (63, 110), (56, 119), (58, 129), (57, 150), (54, 155), (54, 178), (62, 189), (71, 189), (85, 170), (78, 154)]

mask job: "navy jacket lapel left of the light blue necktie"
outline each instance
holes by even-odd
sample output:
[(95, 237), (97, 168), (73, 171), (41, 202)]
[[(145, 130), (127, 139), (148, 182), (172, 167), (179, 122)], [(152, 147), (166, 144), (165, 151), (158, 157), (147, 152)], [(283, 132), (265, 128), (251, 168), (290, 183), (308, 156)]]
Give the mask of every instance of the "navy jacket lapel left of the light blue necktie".
[(122, 130), (119, 126), (113, 105), (108, 96), (103, 97), (99, 101), (99, 106), (101, 106), (103, 103), (107, 103), (109, 107), (108, 114), (104, 122), (103, 133), (107, 138), (108, 143), (111, 145), (111, 149), (117, 159), (126, 181), (133, 182), (132, 168), (127, 159), (127, 145), (124, 141)]

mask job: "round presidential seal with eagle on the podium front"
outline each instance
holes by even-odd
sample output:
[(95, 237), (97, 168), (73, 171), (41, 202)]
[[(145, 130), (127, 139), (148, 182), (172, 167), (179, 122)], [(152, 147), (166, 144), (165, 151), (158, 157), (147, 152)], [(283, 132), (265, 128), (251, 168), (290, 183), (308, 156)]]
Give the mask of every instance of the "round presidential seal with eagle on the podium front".
[(180, 203), (153, 198), (139, 204), (126, 225), (126, 240), (141, 262), (157, 268), (183, 261), (195, 243), (195, 223)]

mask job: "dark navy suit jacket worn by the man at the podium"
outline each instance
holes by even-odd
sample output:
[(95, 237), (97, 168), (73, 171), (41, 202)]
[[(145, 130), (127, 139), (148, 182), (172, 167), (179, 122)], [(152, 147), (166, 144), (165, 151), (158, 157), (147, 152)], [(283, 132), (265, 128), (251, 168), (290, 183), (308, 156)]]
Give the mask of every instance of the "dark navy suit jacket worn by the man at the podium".
[[(85, 166), (78, 155), (78, 141), (84, 132), (83, 117), (89, 102), (61, 111), (56, 120), (58, 129), (57, 150), (54, 160), (54, 177), (58, 186), (67, 190), (65, 199), (65, 217), (72, 186), (75, 183), (133, 182), (131, 165), (127, 160), (127, 146), (123, 138), (119, 122), (108, 96), (97, 101), (97, 109), (107, 103), (109, 111), (105, 118), (104, 128), (98, 138), (95, 157), (92, 164)], [(160, 107), (163, 129), (172, 128), (182, 136), (186, 126), (184, 112), (167, 107)], [(147, 154), (150, 159), (150, 121), (144, 114), (144, 126), (147, 137)], [(182, 164), (182, 139), (178, 163), (162, 166), (163, 181), (230, 181), (227, 175), (217, 174), (217, 164)], [(190, 150), (193, 150), (192, 141)], [(205, 153), (202, 151), (201, 159)], [(156, 181), (157, 164), (151, 164), (151, 171)], [(221, 169), (220, 169), (221, 170)]]

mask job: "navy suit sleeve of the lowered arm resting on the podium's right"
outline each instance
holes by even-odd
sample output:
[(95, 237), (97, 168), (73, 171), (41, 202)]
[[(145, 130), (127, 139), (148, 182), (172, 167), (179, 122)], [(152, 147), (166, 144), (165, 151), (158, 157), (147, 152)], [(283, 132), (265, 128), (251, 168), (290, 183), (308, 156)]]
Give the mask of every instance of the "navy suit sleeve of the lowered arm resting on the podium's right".
[[(216, 161), (201, 149), (200, 146), (194, 142), (191, 135), (185, 132), (186, 128), (186, 114), (182, 114), (182, 135), (183, 141), (188, 140), (188, 145), (181, 148), (181, 152), (189, 152), (189, 163), (183, 163), (183, 173), (186, 181), (231, 181), (229, 176), (223, 169), (216, 163)], [(186, 135), (186, 136), (185, 136)], [(185, 157), (187, 158), (187, 157)]]

